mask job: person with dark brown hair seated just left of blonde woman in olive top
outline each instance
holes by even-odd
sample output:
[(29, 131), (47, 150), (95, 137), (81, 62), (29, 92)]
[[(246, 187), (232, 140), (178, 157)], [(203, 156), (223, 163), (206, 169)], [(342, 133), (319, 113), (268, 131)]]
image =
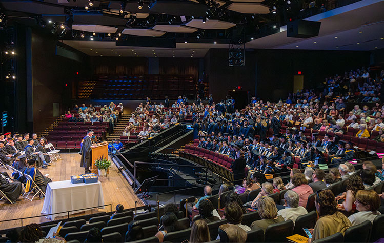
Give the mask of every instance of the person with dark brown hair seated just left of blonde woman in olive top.
[[(236, 232), (251, 231), (251, 228), (249, 228), (246, 225), (241, 224), (242, 214), (243, 213), (242, 213), (241, 207), (238, 204), (236, 204), (236, 202), (231, 202), (230, 204), (227, 204), (225, 209), (224, 209), (224, 215), (227, 219), (227, 224), (219, 226), (219, 230), (218, 230), (219, 234), (217, 236), (217, 239), (221, 238), (220, 235), (222, 232), (220, 232), (220, 230), (225, 231), (226, 233), (230, 232), (230, 231), (228, 231), (228, 228), (231, 227), (230, 225), (237, 226), (237, 227), (234, 227), (234, 230)], [(241, 235), (244, 235), (244, 233), (241, 233)], [(247, 238), (247, 233), (245, 235)], [(228, 235), (228, 233), (227, 233), (227, 237), (236, 237), (236, 236), (235, 235)], [(229, 242), (241, 242), (241, 240), (240, 241), (231, 241), (230, 240)]]

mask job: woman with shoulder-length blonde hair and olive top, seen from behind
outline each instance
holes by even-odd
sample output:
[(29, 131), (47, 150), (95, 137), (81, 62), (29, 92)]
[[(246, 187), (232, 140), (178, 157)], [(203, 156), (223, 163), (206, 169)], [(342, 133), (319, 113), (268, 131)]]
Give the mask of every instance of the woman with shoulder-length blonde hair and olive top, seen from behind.
[(262, 197), (257, 201), (257, 212), (262, 219), (252, 223), (252, 230), (262, 229), (265, 232), (268, 226), (284, 222), (284, 218), (277, 214), (276, 204), (271, 197)]

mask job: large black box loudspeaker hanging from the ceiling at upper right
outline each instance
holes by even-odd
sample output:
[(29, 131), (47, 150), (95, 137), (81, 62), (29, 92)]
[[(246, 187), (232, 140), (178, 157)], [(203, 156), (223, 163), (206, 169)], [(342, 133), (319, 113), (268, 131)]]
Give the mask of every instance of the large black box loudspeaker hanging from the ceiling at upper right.
[(296, 20), (287, 23), (287, 37), (311, 38), (319, 35), (321, 22)]

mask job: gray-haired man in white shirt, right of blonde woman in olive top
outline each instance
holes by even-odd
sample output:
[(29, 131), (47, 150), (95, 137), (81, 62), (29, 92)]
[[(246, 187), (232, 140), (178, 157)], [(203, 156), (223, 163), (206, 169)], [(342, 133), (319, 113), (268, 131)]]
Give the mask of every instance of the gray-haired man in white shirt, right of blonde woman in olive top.
[(300, 197), (297, 192), (288, 190), (286, 194), (284, 194), (284, 201), (287, 207), (285, 209), (279, 210), (277, 215), (281, 215), (284, 220), (291, 219), (293, 222), (295, 222), (298, 216), (307, 214), (307, 209), (299, 206), (299, 200)]

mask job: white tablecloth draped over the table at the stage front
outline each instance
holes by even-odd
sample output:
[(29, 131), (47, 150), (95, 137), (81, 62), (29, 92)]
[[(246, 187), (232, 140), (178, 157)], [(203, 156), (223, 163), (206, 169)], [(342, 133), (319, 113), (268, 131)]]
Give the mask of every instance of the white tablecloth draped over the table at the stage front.
[[(72, 184), (70, 180), (54, 181), (48, 183), (42, 214), (65, 212), (100, 205), (104, 205), (103, 188), (100, 181), (90, 184)], [(55, 217), (64, 215), (67, 214), (55, 214), (46, 217), (54, 220)]]

